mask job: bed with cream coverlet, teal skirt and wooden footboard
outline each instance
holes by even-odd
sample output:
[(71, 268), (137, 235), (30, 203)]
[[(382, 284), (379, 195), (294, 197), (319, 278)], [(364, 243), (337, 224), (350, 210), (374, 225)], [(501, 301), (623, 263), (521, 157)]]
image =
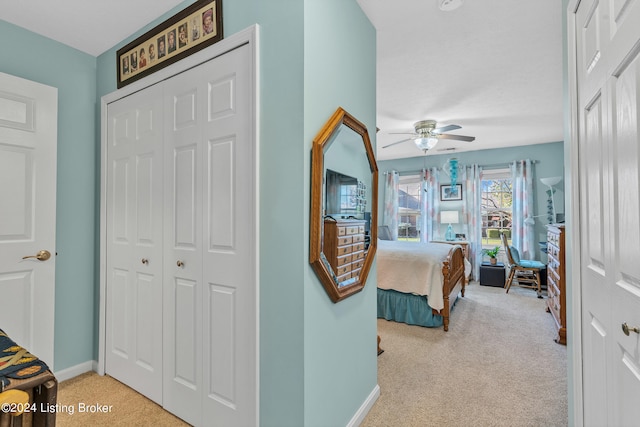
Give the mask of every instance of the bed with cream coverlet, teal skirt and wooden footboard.
[(379, 318), (449, 330), (471, 270), (460, 246), (379, 240), (377, 265)]

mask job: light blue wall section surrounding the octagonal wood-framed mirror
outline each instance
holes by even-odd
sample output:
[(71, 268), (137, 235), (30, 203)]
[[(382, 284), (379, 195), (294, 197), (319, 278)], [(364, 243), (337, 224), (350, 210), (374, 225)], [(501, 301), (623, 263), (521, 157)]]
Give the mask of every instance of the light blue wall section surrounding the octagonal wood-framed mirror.
[[(337, 107), (375, 145), (376, 35), (355, 0), (307, 0), (304, 39), (305, 426), (344, 426), (377, 384), (375, 264), (364, 290), (331, 302), (308, 263), (311, 141)], [(351, 175), (354, 175), (355, 172)]]

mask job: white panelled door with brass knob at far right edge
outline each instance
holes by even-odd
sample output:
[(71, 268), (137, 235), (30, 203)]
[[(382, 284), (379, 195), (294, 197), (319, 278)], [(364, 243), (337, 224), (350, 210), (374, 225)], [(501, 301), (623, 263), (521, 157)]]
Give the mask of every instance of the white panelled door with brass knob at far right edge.
[(584, 422), (633, 426), (640, 335), (622, 326), (640, 327), (640, 4), (582, 0), (575, 27)]

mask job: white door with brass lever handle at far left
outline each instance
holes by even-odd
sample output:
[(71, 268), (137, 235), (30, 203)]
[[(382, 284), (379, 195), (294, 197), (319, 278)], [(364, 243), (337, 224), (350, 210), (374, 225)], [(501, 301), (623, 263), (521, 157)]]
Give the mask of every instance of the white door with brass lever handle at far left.
[(56, 88), (0, 73), (0, 329), (51, 369), (57, 121)]

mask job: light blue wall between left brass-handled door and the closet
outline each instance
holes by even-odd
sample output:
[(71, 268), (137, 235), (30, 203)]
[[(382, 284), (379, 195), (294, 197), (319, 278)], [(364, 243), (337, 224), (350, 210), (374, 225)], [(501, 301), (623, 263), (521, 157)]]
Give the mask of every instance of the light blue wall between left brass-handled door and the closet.
[(0, 72), (58, 88), (53, 369), (60, 370), (95, 354), (96, 59), (1, 20), (0, 58)]

